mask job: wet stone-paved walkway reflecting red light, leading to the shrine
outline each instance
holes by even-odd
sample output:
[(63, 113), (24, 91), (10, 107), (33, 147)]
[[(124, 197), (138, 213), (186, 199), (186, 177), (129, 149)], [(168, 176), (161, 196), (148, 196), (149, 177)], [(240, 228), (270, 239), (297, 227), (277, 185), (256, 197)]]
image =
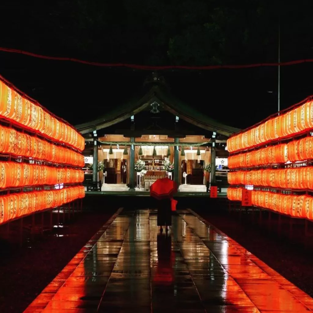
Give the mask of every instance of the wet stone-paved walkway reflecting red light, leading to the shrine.
[(190, 210), (120, 209), (24, 313), (308, 312), (313, 300)]

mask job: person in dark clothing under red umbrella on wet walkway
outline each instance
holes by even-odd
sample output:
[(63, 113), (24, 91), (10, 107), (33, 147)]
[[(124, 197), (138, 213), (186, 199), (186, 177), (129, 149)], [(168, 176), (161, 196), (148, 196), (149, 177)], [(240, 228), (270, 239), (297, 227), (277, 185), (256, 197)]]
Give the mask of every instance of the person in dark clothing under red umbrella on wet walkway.
[(172, 226), (172, 211), (176, 210), (177, 201), (173, 199), (173, 194), (177, 192), (177, 184), (169, 178), (157, 179), (150, 186), (150, 195), (159, 200), (157, 209), (157, 226), (160, 226), (160, 232), (168, 232), (168, 227)]

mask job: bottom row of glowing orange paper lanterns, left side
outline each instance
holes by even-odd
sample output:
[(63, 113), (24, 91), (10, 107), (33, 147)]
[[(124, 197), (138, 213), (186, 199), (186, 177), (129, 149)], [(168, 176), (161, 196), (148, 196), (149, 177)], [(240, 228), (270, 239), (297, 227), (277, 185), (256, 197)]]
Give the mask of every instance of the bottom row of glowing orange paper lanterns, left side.
[(84, 197), (85, 188), (83, 186), (0, 196), (0, 224), (34, 212), (59, 207), (64, 203)]

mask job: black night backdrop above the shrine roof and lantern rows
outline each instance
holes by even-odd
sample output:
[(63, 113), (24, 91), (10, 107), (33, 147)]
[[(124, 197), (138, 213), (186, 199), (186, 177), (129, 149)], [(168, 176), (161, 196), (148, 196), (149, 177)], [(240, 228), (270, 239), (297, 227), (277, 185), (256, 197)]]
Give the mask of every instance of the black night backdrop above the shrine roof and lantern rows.
[[(0, 46), (145, 65), (251, 64), (313, 58), (311, 1), (100, 1), (0, 4)], [(313, 64), (281, 66), (281, 109), (312, 92)], [(165, 70), (172, 93), (245, 128), (277, 111), (277, 67)], [(132, 98), (149, 71), (0, 52), (0, 74), (72, 124)], [(270, 91), (270, 93), (269, 93)]]

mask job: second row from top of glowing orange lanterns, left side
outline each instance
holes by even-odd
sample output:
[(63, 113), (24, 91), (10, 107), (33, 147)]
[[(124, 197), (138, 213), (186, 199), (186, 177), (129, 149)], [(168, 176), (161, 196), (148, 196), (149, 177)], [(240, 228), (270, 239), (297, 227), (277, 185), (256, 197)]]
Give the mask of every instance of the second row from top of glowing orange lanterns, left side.
[(81, 153), (1, 125), (0, 153), (78, 167), (85, 165), (84, 156)]

